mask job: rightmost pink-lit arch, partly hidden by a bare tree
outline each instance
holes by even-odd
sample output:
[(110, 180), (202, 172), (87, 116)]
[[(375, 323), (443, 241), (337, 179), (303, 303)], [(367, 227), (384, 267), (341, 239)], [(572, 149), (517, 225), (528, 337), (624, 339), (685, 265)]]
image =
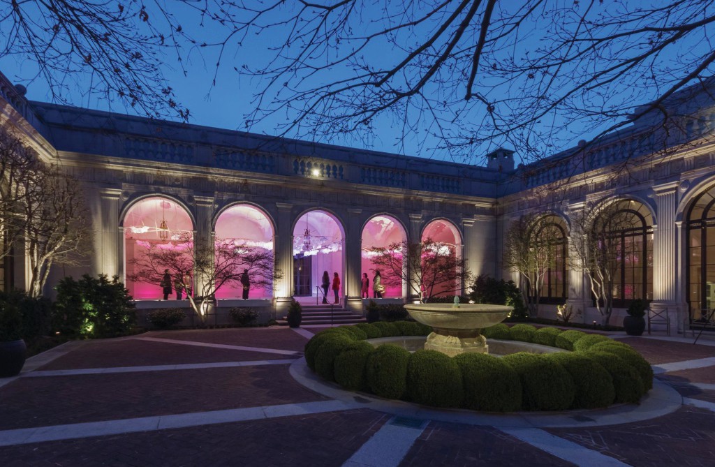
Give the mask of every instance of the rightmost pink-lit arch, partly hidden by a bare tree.
[[(435, 262), (440, 257), (442, 261), (450, 261), (448, 258), (451, 258), (455, 264), (462, 260), (462, 235), (457, 226), (448, 220), (436, 219), (428, 223), (422, 231), (420, 241), (423, 244), (430, 243), (430, 247), (423, 249), (422, 252), (423, 269), (426, 269), (425, 262)], [(423, 281), (422, 287), (425, 289), (423, 293), (427, 297), (438, 297), (440, 295), (460, 295), (463, 284), (444, 282), (439, 279), (435, 283), (434, 280), (428, 278)]]

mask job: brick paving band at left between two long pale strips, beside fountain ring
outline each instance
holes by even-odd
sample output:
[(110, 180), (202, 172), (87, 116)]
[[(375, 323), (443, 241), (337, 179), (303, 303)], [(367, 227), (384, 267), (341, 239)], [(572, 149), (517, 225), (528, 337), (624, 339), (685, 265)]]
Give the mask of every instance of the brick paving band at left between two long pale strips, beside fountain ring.
[(0, 390), (0, 429), (314, 400), (287, 365), (20, 378)]

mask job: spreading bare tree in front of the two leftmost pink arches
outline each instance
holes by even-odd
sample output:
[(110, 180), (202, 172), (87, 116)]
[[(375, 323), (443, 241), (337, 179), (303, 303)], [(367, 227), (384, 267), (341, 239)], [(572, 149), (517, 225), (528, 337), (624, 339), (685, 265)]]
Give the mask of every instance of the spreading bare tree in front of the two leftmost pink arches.
[(127, 279), (132, 282), (158, 285), (164, 270), (168, 269), (172, 284), (176, 280), (184, 290), (193, 290), (187, 298), (202, 319), (217, 291), (225, 285), (240, 285), (244, 270), (248, 270), (251, 287), (267, 290), (272, 290), (275, 280), (282, 277), (280, 270), (274, 267), (271, 250), (239, 245), (231, 239), (217, 238), (213, 245), (204, 244), (194, 241), (188, 232), (178, 234), (169, 242), (147, 243), (131, 263), (134, 272), (127, 275)]

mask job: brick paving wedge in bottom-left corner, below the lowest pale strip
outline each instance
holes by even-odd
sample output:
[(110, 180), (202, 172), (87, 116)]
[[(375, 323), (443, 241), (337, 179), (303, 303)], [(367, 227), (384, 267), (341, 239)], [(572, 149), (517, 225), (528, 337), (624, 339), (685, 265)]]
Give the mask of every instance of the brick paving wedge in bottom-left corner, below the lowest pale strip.
[(368, 410), (0, 448), (4, 467), (340, 466), (388, 417)]

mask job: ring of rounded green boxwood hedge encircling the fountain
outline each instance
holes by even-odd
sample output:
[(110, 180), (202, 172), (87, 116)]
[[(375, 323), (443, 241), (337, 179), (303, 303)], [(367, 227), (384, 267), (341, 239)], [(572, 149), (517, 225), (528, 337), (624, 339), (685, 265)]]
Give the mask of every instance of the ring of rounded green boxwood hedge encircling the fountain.
[[(561, 411), (637, 403), (653, 387), (653, 371), (629, 345), (603, 335), (531, 325), (500, 324), (487, 338), (521, 340), (573, 350), (516, 353), (497, 358), (434, 350), (409, 353), (398, 345), (374, 348), (366, 338), (428, 335), (419, 323), (395, 322), (324, 330), (305, 345), (308, 367), (349, 390), (435, 407), (477, 411)], [(498, 337), (497, 337), (498, 336)]]

